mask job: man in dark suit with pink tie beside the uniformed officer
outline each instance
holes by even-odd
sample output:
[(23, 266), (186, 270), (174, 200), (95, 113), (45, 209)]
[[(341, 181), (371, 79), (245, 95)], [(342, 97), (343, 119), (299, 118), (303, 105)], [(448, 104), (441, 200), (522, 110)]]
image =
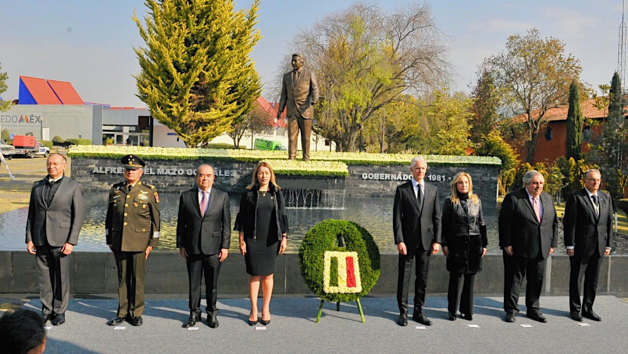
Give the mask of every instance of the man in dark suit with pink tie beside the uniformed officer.
[(197, 187), (183, 191), (179, 198), (176, 247), (185, 259), (190, 279), (190, 318), (188, 328), (200, 321), (200, 282), (205, 273), (207, 324), (218, 327), (218, 274), (229, 254), (231, 215), (229, 195), (212, 188), (214, 168), (202, 164), (197, 169)]

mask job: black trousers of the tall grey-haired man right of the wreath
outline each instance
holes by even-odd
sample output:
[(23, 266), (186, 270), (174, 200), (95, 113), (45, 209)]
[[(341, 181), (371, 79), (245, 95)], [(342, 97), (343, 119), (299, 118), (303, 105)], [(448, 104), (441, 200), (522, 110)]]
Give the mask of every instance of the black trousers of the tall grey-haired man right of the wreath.
[(408, 288), (412, 263), (416, 257), (416, 279), (414, 280), (414, 314), (423, 312), (425, 304), (425, 289), (428, 281), (428, 269), (430, 269), (430, 251), (424, 251), (421, 247), (408, 254), (399, 254), (399, 276), (397, 278), (397, 303), (399, 313), (408, 314)]

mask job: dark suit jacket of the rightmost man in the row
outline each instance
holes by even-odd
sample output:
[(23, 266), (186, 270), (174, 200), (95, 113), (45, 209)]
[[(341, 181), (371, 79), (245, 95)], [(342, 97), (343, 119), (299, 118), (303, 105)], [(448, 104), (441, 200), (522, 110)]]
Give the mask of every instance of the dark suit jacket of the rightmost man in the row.
[(574, 246), (575, 255), (590, 256), (597, 250), (604, 257), (606, 247), (613, 245), (613, 205), (608, 193), (597, 191), (600, 215), (584, 188), (571, 193), (565, 204), (565, 246)]

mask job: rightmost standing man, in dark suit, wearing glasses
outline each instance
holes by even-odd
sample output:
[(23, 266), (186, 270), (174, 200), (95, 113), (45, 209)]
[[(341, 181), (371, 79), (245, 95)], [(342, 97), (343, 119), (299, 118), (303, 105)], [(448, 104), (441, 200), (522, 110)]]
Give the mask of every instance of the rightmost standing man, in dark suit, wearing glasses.
[[(610, 195), (599, 190), (600, 182), (600, 171), (589, 169), (584, 175), (585, 188), (571, 193), (565, 204), (565, 247), (571, 266), (569, 309), (571, 318), (576, 321), (582, 321), (582, 316), (602, 321), (593, 312), (593, 301), (602, 257), (610, 254), (613, 245), (613, 205)], [(585, 284), (581, 309), (580, 287), (583, 277)]]

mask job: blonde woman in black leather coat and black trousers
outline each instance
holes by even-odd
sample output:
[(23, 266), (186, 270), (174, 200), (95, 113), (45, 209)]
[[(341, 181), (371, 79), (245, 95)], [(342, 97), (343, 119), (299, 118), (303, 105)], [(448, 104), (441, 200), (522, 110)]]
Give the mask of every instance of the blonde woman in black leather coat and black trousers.
[(447, 257), (449, 289), (447, 311), (455, 321), (460, 303), (463, 319), (473, 319), (475, 274), (482, 270), (482, 257), (488, 240), (482, 213), (482, 201), (473, 193), (473, 181), (468, 173), (460, 172), (450, 185), (452, 195), (445, 199), (441, 218), (442, 247)]

